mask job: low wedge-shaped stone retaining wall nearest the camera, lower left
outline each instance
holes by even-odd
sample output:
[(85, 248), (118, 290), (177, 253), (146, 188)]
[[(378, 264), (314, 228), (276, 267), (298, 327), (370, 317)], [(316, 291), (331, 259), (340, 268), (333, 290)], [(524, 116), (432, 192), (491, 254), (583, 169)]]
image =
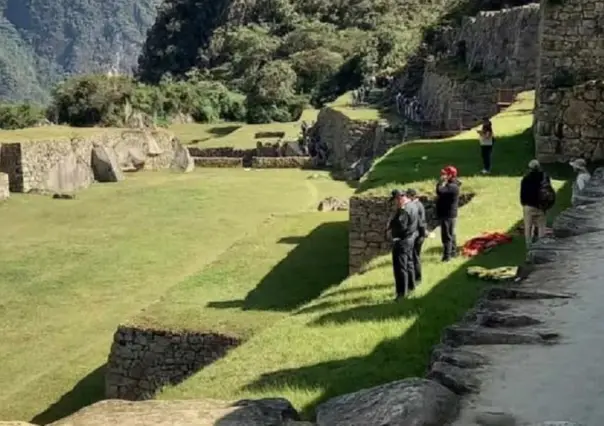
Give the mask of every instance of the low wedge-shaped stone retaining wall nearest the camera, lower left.
[(107, 398), (150, 399), (222, 358), (239, 340), (215, 333), (174, 333), (120, 326), (105, 372)]

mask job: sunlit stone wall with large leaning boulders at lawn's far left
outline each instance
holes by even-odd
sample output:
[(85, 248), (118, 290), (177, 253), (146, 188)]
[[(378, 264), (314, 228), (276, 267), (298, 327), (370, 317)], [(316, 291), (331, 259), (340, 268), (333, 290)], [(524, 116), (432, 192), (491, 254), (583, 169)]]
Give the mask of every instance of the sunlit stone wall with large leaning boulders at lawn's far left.
[[(166, 131), (99, 130), (86, 137), (0, 145), (0, 193), (73, 194), (97, 182), (117, 182), (123, 172), (172, 168), (189, 172), (189, 152)], [(0, 197), (1, 198), (1, 197)]]

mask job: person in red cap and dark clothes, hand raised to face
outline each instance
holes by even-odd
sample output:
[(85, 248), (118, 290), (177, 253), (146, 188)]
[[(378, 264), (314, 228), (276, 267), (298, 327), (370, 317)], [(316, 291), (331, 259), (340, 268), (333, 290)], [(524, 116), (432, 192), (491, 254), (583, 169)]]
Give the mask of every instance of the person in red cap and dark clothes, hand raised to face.
[(436, 184), (436, 217), (440, 225), (440, 238), (443, 244), (443, 262), (457, 256), (457, 236), (455, 226), (459, 208), (459, 188), (457, 169), (447, 166), (440, 172)]

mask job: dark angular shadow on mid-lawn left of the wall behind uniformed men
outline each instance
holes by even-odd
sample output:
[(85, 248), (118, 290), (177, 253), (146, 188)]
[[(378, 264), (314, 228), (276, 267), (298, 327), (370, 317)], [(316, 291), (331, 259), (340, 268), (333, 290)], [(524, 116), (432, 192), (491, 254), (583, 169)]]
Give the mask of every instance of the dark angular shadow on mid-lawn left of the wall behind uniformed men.
[(296, 247), (244, 300), (210, 302), (212, 308), (292, 311), (348, 276), (348, 222), (328, 222), (309, 235), (282, 238)]

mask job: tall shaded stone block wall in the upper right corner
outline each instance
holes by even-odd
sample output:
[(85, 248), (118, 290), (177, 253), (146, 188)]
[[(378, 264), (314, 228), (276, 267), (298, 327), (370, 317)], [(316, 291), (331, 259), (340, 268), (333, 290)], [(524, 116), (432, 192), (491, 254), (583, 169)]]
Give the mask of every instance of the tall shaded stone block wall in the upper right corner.
[(541, 2), (535, 145), (542, 162), (604, 159), (604, 3)]

